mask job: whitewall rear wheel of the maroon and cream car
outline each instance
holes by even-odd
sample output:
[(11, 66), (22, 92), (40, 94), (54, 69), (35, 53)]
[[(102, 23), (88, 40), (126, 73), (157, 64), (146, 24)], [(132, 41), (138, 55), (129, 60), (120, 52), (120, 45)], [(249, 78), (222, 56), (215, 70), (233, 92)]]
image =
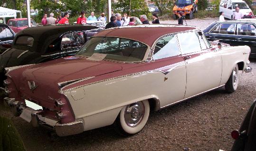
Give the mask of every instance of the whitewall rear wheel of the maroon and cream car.
[(148, 100), (123, 107), (115, 121), (116, 131), (125, 136), (140, 132), (148, 121), (149, 111)]

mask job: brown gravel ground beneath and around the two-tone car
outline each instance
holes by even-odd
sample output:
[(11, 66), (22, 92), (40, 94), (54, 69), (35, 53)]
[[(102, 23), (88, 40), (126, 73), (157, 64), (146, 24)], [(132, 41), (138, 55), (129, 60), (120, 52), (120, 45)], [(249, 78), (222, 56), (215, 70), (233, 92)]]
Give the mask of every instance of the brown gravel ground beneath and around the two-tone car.
[[(193, 22), (204, 24), (200, 26), (204, 28), (212, 20)], [(67, 137), (50, 137), (46, 129), (34, 128), (14, 117), (2, 101), (0, 116), (13, 121), (27, 151), (184, 151), (185, 147), (190, 151), (229, 151), (233, 143), (230, 132), (239, 128), (256, 98), (256, 60), (251, 60), (250, 66), (251, 73), (240, 72), (236, 92), (228, 94), (222, 87), (151, 112), (142, 132), (131, 137), (119, 136), (112, 126)]]

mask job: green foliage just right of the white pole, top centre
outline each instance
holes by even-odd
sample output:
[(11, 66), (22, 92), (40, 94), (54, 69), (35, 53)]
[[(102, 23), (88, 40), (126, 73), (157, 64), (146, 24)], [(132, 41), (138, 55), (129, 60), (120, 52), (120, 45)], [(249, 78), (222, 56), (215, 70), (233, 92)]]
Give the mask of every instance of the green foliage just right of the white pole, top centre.
[[(149, 9), (144, 0), (131, 0), (131, 16), (139, 17), (140, 15), (151, 16)], [(112, 4), (114, 13), (127, 13), (129, 14), (130, 0), (118, 0), (118, 2)]]

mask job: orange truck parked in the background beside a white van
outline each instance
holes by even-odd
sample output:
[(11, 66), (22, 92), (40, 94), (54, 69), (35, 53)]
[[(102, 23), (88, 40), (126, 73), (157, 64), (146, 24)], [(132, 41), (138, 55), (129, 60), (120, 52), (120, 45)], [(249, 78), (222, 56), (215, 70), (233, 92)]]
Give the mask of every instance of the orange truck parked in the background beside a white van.
[(198, 0), (176, 0), (175, 6), (172, 9), (173, 19), (177, 19), (179, 13), (182, 13), (182, 16), (193, 19), (194, 13), (197, 12), (197, 3)]

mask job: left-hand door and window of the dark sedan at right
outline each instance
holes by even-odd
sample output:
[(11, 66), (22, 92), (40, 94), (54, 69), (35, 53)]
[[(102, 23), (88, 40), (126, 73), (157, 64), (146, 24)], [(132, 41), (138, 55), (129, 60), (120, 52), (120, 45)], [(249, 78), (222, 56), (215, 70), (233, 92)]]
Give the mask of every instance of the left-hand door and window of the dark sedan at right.
[(209, 41), (218, 40), (224, 43), (235, 42), (235, 23), (219, 23), (215, 25), (209, 32)]

